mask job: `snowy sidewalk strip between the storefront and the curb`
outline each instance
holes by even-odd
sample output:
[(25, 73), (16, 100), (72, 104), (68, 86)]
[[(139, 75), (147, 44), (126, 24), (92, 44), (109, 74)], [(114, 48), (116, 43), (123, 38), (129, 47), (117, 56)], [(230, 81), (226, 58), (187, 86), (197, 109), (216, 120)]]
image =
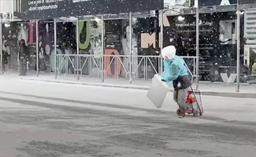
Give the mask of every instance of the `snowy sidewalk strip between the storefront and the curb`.
[[(8, 74), (2, 75), (1, 77), (13, 78), (16, 75)], [(16, 76), (17, 78), (17, 76)], [(102, 87), (114, 87), (114, 88), (131, 88), (131, 89), (141, 89), (148, 90), (150, 88), (151, 81), (133, 81), (132, 84), (128, 80), (116, 80), (116, 79), (105, 79), (104, 83), (100, 78), (95, 77), (80, 77), (80, 80), (77, 80), (77, 77), (74, 76), (58, 76), (55, 79), (54, 74), (42, 73), (39, 77), (35, 75), (27, 75), (23, 77), (18, 77), (22, 80), (32, 80), (32, 81), (44, 81), (52, 83), (67, 83), (67, 84), (79, 84), (79, 85), (89, 85), (89, 86), (102, 86)], [(195, 83), (192, 88), (195, 88)], [(241, 84), (240, 92), (236, 92), (236, 84), (230, 83), (209, 83), (209, 82), (200, 82), (199, 90), (202, 92), (202, 95), (211, 95), (211, 96), (221, 96), (221, 97), (240, 97), (240, 98), (256, 98), (256, 85), (255, 84)], [(170, 87), (170, 91), (173, 91), (173, 88)]]

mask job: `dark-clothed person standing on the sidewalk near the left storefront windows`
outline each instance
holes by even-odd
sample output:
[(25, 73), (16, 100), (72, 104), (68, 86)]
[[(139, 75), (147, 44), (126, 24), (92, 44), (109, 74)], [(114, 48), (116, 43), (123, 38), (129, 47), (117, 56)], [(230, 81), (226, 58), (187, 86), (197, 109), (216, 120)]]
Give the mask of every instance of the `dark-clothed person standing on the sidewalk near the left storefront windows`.
[(21, 39), (18, 46), (18, 63), (20, 66), (20, 75), (26, 75), (26, 64), (28, 60), (28, 47), (26, 46), (25, 40)]

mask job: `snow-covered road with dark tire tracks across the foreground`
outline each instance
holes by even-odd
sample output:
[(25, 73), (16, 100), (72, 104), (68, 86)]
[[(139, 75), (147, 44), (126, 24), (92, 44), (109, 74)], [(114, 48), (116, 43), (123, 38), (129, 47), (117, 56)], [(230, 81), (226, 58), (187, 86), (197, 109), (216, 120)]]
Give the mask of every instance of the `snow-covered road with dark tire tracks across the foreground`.
[(256, 154), (255, 99), (202, 96), (204, 115), (179, 119), (172, 93), (156, 109), (143, 90), (0, 80), (0, 157)]

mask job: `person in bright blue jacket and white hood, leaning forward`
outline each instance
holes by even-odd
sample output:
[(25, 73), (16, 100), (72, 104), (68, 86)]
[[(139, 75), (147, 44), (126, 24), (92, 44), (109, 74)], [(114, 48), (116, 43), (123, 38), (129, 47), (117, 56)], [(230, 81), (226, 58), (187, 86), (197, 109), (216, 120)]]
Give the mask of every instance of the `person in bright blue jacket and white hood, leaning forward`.
[(182, 57), (176, 55), (174, 46), (163, 48), (162, 57), (164, 58), (163, 81), (166, 83), (172, 82), (175, 89), (173, 99), (179, 106), (179, 116), (185, 117), (187, 108), (186, 96), (189, 87), (192, 85), (189, 71), (185, 66), (186, 63)]

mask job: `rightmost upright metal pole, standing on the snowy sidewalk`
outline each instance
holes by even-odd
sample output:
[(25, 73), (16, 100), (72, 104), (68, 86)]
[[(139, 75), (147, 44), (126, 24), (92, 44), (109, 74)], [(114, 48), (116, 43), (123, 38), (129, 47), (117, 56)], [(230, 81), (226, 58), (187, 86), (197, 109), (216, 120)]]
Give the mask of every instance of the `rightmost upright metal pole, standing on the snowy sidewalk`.
[(239, 92), (240, 83), (240, 10), (237, 5), (237, 28), (236, 28), (236, 92)]

